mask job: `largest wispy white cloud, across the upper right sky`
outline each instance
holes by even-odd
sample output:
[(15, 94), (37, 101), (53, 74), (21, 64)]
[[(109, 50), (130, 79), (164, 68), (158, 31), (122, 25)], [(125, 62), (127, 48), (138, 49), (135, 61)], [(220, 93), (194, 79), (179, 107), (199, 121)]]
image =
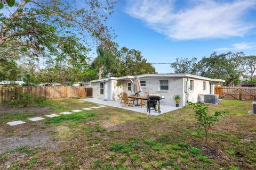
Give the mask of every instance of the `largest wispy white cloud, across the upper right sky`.
[(256, 1), (128, 1), (126, 13), (149, 28), (177, 40), (244, 36), (254, 28), (243, 17)]

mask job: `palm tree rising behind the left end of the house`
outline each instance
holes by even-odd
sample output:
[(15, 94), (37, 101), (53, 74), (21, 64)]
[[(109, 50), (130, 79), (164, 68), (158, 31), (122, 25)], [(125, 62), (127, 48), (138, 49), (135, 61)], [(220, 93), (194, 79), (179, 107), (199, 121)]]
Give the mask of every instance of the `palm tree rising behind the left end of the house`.
[(111, 67), (115, 64), (115, 57), (107, 52), (106, 49), (99, 46), (97, 48), (97, 58), (92, 62), (92, 66), (99, 69), (99, 79), (101, 79), (101, 72), (103, 67)]

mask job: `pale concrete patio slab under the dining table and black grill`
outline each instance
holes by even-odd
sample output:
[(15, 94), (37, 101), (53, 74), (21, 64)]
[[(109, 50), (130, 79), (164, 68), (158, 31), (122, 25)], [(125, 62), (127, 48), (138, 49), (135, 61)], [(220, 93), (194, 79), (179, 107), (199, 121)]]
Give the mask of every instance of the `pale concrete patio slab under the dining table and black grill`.
[[(112, 107), (118, 107), (118, 108), (123, 108), (129, 111), (134, 111), (134, 112), (140, 112), (140, 113), (145, 113), (145, 114), (149, 114), (149, 112), (147, 112), (147, 108), (143, 105), (143, 107), (141, 108), (140, 106), (124, 106), (124, 104), (120, 103), (120, 100), (103, 100), (103, 99), (97, 99), (97, 98), (86, 98), (86, 99), (80, 99), (83, 101), (89, 101), (92, 103), (97, 103), (97, 104), (102, 104), (102, 105), (107, 105), (107, 106), (112, 106)], [(136, 102), (136, 101), (135, 101)], [(160, 102), (161, 104), (161, 102)], [(160, 105), (161, 108), (161, 113), (157, 113), (154, 110), (151, 110), (150, 115), (154, 115), (154, 116), (158, 116), (170, 111), (174, 111), (176, 109), (179, 109), (181, 107), (173, 107), (173, 106), (169, 106), (169, 105)]]

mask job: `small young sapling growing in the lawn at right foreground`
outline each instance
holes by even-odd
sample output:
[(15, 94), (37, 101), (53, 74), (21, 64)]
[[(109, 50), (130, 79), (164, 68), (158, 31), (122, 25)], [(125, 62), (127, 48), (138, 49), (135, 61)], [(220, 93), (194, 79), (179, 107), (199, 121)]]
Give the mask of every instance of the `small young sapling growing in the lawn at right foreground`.
[(192, 102), (188, 102), (188, 105), (190, 107), (193, 107), (193, 110), (195, 112), (195, 117), (197, 120), (197, 129), (200, 129), (201, 127), (203, 127), (204, 131), (205, 131), (205, 140), (206, 143), (208, 144), (208, 140), (207, 140), (207, 133), (209, 131), (209, 129), (212, 129), (212, 126), (219, 121), (219, 116), (225, 117), (227, 116), (227, 110), (225, 109), (224, 111), (217, 111), (214, 112), (213, 115), (209, 115), (208, 114), (208, 107), (204, 104), (195, 104)]

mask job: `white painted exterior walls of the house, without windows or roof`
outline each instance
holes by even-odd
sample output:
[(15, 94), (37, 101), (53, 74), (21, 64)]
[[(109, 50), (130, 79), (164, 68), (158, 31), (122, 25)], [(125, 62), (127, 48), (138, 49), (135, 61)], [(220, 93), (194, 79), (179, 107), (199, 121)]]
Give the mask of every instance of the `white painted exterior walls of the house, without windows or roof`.
[[(163, 78), (163, 77), (151, 77), (151, 78), (140, 78), (141, 81), (146, 81), (146, 87), (141, 88), (140, 96), (144, 96), (145, 92), (149, 94), (159, 94), (164, 96), (164, 99), (161, 100), (161, 104), (175, 106), (175, 101), (173, 100), (174, 95), (180, 95), (181, 101), (180, 106), (185, 106), (186, 101), (192, 101), (197, 103), (197, 96), (199, 94), (210, 94), (210, 82), (206, 80), (199, 79), (189, 79), (189, 78)], [(159, 90), (159, 80), (168, 80), (169, 81), (169, 90), (162, 91)], [(194, 80), (194, 90), (190, 90), (190, 80)], [(118, 80), (120, 81), (120, 80)], [(114, 94), (117, 96), (121, 92), (126, 92), (129, 95), (134, 94), (133, 86), (132, 91), (127, 91), (127, 82), (130, 80), (122, 80), (122, 86), (117, 87), (117, 80), (109, 80), (104, 84), (104, 94), (100, 95), (100, 83), (94, 82), (93, 84), (93, 98), (106, 99), (106, 83), (109, 83), (109, 93), (111, 93), (110, 100), (113, 100)], [(188, 92), (185, 93), (185, 83), (188, 84)], [(206, 82), (206, 90), (203, 90), (203, 82)], [(214, 85), (212, 85), (212, 94), (214, 94)]]

